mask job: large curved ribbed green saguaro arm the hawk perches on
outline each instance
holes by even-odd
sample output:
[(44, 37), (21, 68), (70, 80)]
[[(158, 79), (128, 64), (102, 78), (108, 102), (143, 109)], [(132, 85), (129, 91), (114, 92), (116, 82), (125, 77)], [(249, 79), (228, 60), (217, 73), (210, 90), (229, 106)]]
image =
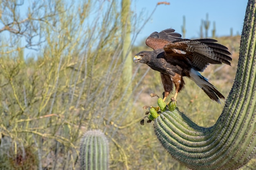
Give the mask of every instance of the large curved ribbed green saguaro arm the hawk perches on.
[(155, 119), (166, 150), (194, 170), (237, 169), (256, 155), (256, 0), (249, 0), (234, 85), (210, 128), (196, 125), (177, 108)]

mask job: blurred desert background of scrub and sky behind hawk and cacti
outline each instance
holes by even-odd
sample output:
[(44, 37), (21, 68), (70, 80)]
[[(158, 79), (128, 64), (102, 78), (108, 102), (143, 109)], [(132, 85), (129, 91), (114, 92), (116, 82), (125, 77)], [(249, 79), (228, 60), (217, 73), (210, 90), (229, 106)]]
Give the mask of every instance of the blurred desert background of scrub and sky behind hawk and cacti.
[[(204, 73), (227, 97), (238, 62), (247, 2), (149, 0), (2, 0), (0, 2), (0, 169), (78, 170), (88, 130), (101, 130), (111, 170), (186, 170), (140, 125), (157, 104), (159, 73), (133, 56), (151, 50), (154, 31), (214, 38), (229, 48), (231, 66)], [(178, 108), (210, 127), (222, 104), (185, 79)], [(172, 96), (173, 94), (171, 94)], [(169, 99), (168, 99), (169, 100)], [(167, 101), (168, 102), (168, 101)], [(107, 145), (107, 144), (106, 144)], [(242, 169), (255, 166), (253, 159)]]

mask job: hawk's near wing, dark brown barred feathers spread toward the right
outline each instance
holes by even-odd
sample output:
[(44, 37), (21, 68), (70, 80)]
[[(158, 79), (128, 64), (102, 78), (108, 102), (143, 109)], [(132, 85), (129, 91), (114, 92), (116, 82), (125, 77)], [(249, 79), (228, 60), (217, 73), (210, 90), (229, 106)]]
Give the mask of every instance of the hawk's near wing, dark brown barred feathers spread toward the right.
[[(186, 60), (197, 71), (204, 71), (209, 64), (225, 63), (230, 65), (232, 59), (227, 47), (215, 43), (213, 39), (181, 39), (164, 46), (166, 60), (173, 57)], [(176, 54), (175, 54), (176, 53)]]

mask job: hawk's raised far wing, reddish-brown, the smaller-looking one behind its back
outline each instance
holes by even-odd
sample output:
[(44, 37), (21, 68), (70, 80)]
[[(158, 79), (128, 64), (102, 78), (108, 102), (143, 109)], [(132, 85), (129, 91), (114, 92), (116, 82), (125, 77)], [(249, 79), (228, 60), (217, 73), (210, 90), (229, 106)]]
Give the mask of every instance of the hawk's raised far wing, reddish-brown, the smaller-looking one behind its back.
[(179, 33), (174, 32), (174, 29), (166, 29), (161, 32), (153, 32), (146, 39), (146, 44), (150, 48), (163, 49), (166, 44), (169, 42), (173, 42), (175, 40), (181, 39), (181, 35)]

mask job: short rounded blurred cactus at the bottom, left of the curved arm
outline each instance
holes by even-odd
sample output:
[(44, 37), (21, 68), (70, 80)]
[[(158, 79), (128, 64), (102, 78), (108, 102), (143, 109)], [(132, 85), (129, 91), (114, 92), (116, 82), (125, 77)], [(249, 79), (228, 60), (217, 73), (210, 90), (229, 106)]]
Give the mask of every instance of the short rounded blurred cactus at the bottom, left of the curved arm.
[(80, 145), (81, 170), (108, 170), (108, 139), (100, 130), (85, 132)]

